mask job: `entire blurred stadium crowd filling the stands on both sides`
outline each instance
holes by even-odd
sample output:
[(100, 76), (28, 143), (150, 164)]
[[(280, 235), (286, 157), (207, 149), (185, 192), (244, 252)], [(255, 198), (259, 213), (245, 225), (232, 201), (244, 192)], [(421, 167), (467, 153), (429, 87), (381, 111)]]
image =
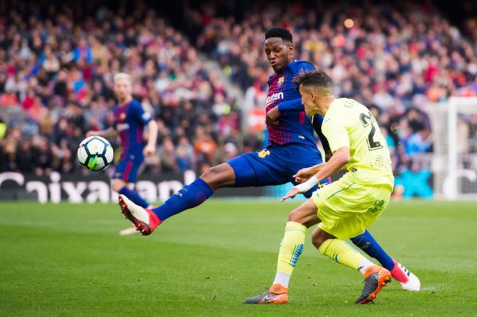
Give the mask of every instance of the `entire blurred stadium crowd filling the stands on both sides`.
[[(31, 4), (0, 16), (0, 124), (8, 127), (6, 135), (0, 127), (0, 171), (75, 170), (85, 131), (112, 124), (111, 79), (120, 70), (136, 79), (134, 95), (160, 127), (150, 171), (200, 172), (260, 149), (262, 136), (242, 131), (241, 121), (265, 105), (271, 69), (263, 33), (273, 26), (292, 30), (296, 58), (331, 74), (337, 95), (371, 106), (396, 171), (432, 151), (421, 105), (477, 96), (476, 48), (429, 4), (265, 4), (243, 18), (219, 15), (214, 6), (186, 8), (192, 43), (146, 4), (135, 8), (125, 14), (121, 6), (101, 7), (78, 18), (66, 5), (42, 16)], [(243, 104), (200, 52), (243, 89)], [(477, 118), (463, 120), (477, 140)]]

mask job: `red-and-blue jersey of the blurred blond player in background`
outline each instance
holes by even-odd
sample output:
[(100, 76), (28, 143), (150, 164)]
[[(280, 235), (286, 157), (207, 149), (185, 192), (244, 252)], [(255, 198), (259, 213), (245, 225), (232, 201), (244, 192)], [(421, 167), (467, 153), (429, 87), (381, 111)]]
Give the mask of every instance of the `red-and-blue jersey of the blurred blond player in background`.
[(128, 104), (114, 107), (114, 128), (121, 140), (120, 160), (142, 161), (144, 159), (144, 128), (151, 120), (150, 114), (144, 111), (136, 99)]

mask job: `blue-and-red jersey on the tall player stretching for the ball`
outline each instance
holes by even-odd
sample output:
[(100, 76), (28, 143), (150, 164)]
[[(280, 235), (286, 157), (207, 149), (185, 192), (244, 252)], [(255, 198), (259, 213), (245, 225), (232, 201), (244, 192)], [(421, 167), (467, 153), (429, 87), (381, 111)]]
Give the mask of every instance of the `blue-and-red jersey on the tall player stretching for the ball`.
[(297, 74), (309, 70), (314, 70), (311, 63), (295, 60), (268, 79), (266, 111), (275, 106), (280, 111), (279, 124), (267, 126), (268, 146), (305, 143), (316, 148), (311, 118), (305, 114), (299, 87), (292, 82)]

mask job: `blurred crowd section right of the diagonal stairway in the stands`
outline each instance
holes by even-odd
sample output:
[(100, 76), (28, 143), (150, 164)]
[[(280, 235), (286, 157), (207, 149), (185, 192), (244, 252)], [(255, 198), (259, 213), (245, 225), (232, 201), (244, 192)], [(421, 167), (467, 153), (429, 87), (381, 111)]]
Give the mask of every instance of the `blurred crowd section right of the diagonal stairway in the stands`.
[[(260, 108), (266, 98), (270, 69), (264, 30), (277, 21), (292, 28), (295, 58), (329, 73), (337, 95), (373, 108), (393, 152), (394, 170), (400, 171), (415, 155), (432, 151), (431, 122), (422, 105), (477, 96), (477, 47), (429, 3), (366, 4), (317, 1), (307, 10), (298, 1), (270, 3), (246, 11), (241, 21), (204, 18), (213, 16), (210, 6), (187, 14), (202, 27), (197, 47), (246, 91), (246, 109)], [(463, 118), (467, 139), (477, 140), (476, 119)]]

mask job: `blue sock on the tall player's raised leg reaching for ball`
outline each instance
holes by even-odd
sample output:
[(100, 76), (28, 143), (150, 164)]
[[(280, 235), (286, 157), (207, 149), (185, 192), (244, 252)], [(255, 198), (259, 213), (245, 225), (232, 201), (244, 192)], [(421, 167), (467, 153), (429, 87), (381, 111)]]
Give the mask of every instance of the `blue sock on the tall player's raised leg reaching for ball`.
[(186, 209), (199, 206), (206, 201), (214, 191), (210, 189), (204, 180), (198, 178), (192, 184), (182, 187), (180, 191), (170, 197), (165, 203), (158, 208), (154, 208), (153, 212), (158, 215), (161, 221), (176, 213), (185, 211)]

